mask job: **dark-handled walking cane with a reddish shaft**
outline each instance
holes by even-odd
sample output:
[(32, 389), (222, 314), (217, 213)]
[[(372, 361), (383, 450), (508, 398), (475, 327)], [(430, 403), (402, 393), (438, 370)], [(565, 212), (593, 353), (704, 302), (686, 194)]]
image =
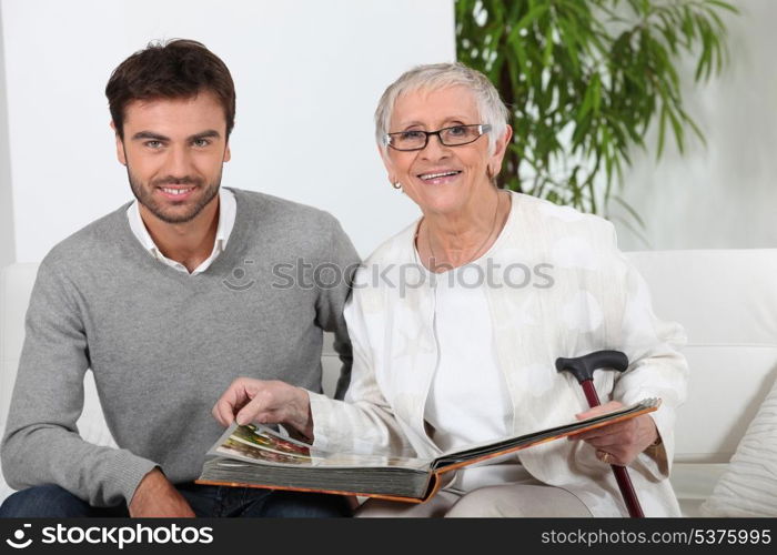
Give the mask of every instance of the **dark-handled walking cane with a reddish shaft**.
[[(613, 369), (618, 372), (625, 372), (628, 367), (628, 359), (620, 351), (596, 351), (576, 359), (556, 359), (556, 370), (558, 372), (571, 372), (577, 382), (583, 386), (585, 398), (588, 405), (593, 408), (599, 406), (599, 396), (594, 387), (594, 371), (598, 369)], [(639, 500), (632, 485), (632, 478), (628, 476), (628, 471), (625, 466), (615, 464), (609, 465), (615, 474), (615, 481), (618, 483), (623, 501), (626, 502), (628, 516), (632, 518), (643, 518), (645, 513), (642, 512)]]

